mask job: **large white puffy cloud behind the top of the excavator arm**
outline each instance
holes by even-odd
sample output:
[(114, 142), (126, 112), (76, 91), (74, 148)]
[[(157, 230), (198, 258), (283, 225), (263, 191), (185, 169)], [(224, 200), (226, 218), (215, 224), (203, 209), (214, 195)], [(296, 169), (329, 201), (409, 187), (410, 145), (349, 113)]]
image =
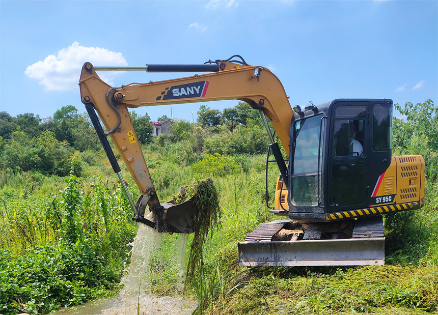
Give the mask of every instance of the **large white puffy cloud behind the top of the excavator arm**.
[[(105, 48), (84, 47), (78, 42), (58, 51), (58, 55), (48, 55), (44, 61), (39, 61), (26, 68), (24, 73), (31, 78), (39, 79), (48, 91), (70, 91), (77, 88), (80, 69), (85, 62), (94, 66), (127, 66), (121, 52)], [(113, 85), (113, 78), (120, 72), (108, 71), (99, 73), (102, 80)]]

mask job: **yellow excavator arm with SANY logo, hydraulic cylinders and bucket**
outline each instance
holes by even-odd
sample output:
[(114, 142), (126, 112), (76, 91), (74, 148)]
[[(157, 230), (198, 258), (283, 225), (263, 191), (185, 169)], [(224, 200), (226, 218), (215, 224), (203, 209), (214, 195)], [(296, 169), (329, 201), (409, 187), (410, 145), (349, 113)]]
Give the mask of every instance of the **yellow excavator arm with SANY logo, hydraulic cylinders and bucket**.
[[(204, 72), (212, 73), (149, 83), (129, 83), (113, 88), (102, 81), (96, 70), (146, 70), (148, 72)], [(228, 61), (216, 61), (207, 65), (149, 65), (116, 69), (111, 67), (93, 67), (85, 63), (79, 81), (81, 101), (86, 105), (93, 125), (99, 135), (105, 152), (112, 163), (115, 173), (122, 184), (120, 168), (114, 157), (106, 136), (110, 135), (119, 151), (129, 173), (139, 187), (142, 196), (133, 205), (125, 188), (136, 221), (146, 223), (164, 232), (193, 232), (190, 223), (196, 215), (191, 206), (160, 204), (151, 176), (143, 156), (138, 138), (129, 116), (128, 108), (140, 106), (183, 104), (216, 100), (240, 100), (260, 110), (262, 118), (266, 116), (275, 128), (277, 135), (288, 153), (290, 122), (293, 110), (289, 104), (280, 80), (268, 69), (237, 64)], [(107, 133), (104, 133), (96, 117), (97, 111)], [(94, 118), (93, 118), (94, 117)], [(266, 120), (265, 127), (267, 127)], [(267, 128), (268, 129), (268, 128)], [(268, 132), (270, 132), (268, 130)], [(274, 144), (270, 134), (271, 143)], [(276, 144), (276, 143), (275, 143)], [(279, 150), (277, 150), (278, 155)], [(276, 158), (277, 159), (277, 158)], [(278, 158), (282, 174), (286, 168), (282, 158)], [(153, 221), (144, 218), (146, 206), (154, 213)], [(173, 218), (173, 219), (172, 219)], [(177, 221), (177, 223), (175, 223)], [(169, 227), (170, 226), (170, 227)]]

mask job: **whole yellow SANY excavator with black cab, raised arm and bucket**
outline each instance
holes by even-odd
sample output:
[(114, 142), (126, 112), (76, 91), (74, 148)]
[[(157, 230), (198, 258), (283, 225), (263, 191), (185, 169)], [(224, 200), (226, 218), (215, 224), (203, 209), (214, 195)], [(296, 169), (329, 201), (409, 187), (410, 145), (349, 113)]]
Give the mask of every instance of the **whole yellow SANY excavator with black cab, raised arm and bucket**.
[[(111, 87), (96, 73), (117, 70), (194, 74)], [(340, 98), (292, 107), (269, 69), (251, 66), (239, 55), (199, 65), (94, 67), (87, 62), (79, 88), (126, 192), (132, 219), (161, 233), (193, 233), (198, 213), (191, 199), (179, 205), (160, 203), (128, 108), (239, 100), (260, 112), (270, 140), (266, 165), (275, 162), (280, 174), (274, 206), (267, 206), (279, 219), (261, 224), (238, 243), (240, 266), (381, 265), (385, 263), (382, 214), (424, 205), (423, 157), (392, 156), (390, 99)], [(108, 135), (140, 189), (135, 204)]]

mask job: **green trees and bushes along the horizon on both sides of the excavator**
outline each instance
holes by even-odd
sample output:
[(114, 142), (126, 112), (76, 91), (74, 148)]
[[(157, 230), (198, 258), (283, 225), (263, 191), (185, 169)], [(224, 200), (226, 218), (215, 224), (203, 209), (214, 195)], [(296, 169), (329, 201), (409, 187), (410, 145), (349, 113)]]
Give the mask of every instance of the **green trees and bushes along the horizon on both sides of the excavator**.
[[(438, 177), (438, 109), (433, 101), (395, 104), (404, 119), (393, 119), (393, 150), (396, 154), (422, 154), (427, 177)], [(153, 140), (153, 126), (147, 113), (131, 111), (139, 142), (156, 150), (178, 150), (180, 161), (191, 164), (204, 154), (260, 154), (266, 151), (268, 139), (259, 112), (239, 102), (223, 111), (201, 105), (195, 124), (175, 119), (170, 135)], [(166, 115), (158, 121), (167, 120)], [(175, 144), (178, 144), (177, 149)], [(173, 146), (171, 148), (171, 146)], [(34, 113), (16, 117), (0, 112), (0, 169), (38, 170), (46, 175), (65, 176), (78, 152), (99, 151), (101, 146), (86, 113), (72, 105), (63, 106), (53, 117), (41, 119)], [(76, 172), (80, 172), (77, 162)]]

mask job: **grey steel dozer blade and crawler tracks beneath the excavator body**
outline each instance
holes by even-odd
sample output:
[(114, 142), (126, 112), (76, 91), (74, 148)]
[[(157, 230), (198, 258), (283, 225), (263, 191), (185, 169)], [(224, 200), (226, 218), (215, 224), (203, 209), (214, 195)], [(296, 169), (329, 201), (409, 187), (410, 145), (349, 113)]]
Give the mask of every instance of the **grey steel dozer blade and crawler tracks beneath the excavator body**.
[[(280, 230), (291, 222), (264, 223), (244, 242), (238, 243), (239, 266), (368, 266), (385, 263), (381, 216), (355, 220), (348, 238), (278, 241), (276, 236)], [(325, 232), (330, 235), (330, 231)]]

